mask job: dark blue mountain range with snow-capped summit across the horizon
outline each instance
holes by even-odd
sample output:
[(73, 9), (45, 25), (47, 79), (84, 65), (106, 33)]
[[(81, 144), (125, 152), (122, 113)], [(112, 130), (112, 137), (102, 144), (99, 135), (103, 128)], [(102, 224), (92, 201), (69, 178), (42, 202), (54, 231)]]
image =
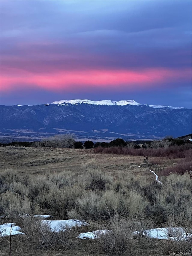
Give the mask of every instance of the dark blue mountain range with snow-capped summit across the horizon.
[(161, 139), (191, 133), (191, 109), (134, 100), (61, 100), (42, 105), (0, 105), (0, 137), (41, 140), (73, 133), (76, 140)]

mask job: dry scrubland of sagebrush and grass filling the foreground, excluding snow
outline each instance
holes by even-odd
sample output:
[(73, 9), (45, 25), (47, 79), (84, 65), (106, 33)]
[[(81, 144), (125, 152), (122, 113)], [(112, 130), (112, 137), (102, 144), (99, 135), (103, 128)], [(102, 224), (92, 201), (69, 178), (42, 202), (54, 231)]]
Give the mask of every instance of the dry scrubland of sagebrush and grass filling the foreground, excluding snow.
[[(187, 150), (181, 158), (147, 151), (131, 155), (0, 147), (0, 224), (16, 223), (25, 233), (12, 236), (11, 243), (10, 237), (0, 236), (0, 255), (190, 255), (191, 240), (179, 239), (179, 233), (176, 240), (134, 234), (158, 227), (183, 227), (192, 233), (191, 165), (184, 166), (191, 163)], [(150, 164), (173, 170), (159, 175), (162, 184), (149, 172), (147, 156)], [(175, 173), (176, 169), (182, 172)], [(51, 232), (34, 217), (38, 214), (85, 220), (89, 225)], [(113, 232), (95, 240), (77, 238), (79, 233), (101, 229)]]

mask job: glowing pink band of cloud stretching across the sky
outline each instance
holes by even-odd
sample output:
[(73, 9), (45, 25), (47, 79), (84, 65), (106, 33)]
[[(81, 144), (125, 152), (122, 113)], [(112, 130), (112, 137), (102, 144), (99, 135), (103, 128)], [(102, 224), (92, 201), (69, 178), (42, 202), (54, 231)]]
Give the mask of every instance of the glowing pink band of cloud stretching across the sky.
[(34, 74), (20, 69), (12, 69), (2, 75), (0, 91), (40, 87), (49, 91), (70, 91), (85, 88), (142, 88), (154, 87), (157, 83), (187, 81), (191, 70), (150, 68), (140, 71), (130, 70), (86, 70), (59, 71), (51, 74)]

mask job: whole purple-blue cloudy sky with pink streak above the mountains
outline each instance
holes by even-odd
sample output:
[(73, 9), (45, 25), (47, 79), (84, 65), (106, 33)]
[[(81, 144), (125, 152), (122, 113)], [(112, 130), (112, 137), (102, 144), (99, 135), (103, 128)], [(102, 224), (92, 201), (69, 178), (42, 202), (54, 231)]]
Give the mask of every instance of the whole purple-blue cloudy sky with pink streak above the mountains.
[(191, 108), (191, 1), (0, 1), (0, 105)]

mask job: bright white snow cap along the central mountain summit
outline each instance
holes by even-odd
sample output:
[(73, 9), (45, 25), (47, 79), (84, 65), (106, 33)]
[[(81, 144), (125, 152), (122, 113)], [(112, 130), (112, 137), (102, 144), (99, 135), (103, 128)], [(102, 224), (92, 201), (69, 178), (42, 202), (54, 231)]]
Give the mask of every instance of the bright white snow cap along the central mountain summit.
[(110, 101), (110, 100), (104, 100), (104, 101), (90, 101), (90, 100), (61, 100), (61, 101), (54, 101), (52, 104), (64, 104), (64, 103), (70, 103), (70, 104), (90, 104), (90, 105), (117, 105), (117, 106), (124, 106), (124, 105), (141, 105), (140, 103), (134, 101), (134, 100), (122, 100), (122, 101)]

